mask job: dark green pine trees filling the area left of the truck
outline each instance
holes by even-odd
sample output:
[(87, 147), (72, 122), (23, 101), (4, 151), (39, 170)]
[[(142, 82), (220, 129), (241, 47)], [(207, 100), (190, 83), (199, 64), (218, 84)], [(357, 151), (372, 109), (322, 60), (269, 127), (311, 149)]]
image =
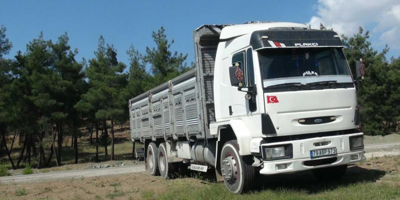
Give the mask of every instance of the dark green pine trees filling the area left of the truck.
[[(32, 156), (38, 159), (37, 168), (49, 166), (53, 157), (59, 166), (65, 136), (73, 139), (78, 163), (82, 127), (87, 127), (90, 142), (96, 146), (94, 160), (99, 161), (99, 147), (104, 148), (106, 159), (114, 160), (114, 124), (128, 121), (128, 100), (190, 70), (187, 54), (170, 51), (174, 41), (168, 42), (163, 27), (153, 32), (152, 38), (156, 47), (147, 47), (144, 54), (130, 46), (126, 51), (129, 66), (117, 60), (116, 49), (106, 44), (103, 36), (98, 39), (95, 57), (77, 62), (78, 50), (68, 44), (67, 33), (56, 42), (44, 40), (40, 33), (27, 44), (26, 52), (4, 59), (12, 42), (1, 26), (0, 148), (12, 168), (19, 168), (21, 161), (30, 164)], [(22, 148), (18, 160), (13, 160), (10, 152), (16, 136)], [(44, 144), (44, 138), (51, 138), (51, 144)], [(50, 145), (45, 158), (43, 147)]]

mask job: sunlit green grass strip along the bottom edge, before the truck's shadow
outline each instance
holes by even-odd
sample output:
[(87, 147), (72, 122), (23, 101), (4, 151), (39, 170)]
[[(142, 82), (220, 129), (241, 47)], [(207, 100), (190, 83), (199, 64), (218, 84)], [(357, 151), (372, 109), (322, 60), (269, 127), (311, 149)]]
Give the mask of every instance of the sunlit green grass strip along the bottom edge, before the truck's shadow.
[[(310, 183), (304, 183), (310, 184)], [(313, 184), (310, 184), (313, 185)], [(314, 184), (316, 190), (308, 190), (299, 187), (279, 187), (264, 188), (263, 190), (254, 190), (243, 195), (236, 195), (228, 192), (223, 183), (213, 184), (193, 184), (189, 182), (181, 182), (174, 184), (167, 192), (159, 193), (157, 199), (176, 200), (176, 199), (282, 199), (282, 200), (298, 200), (298, 199), (396, 199), (400, 197), (400, 187), (391, 184), (376, 185), (373, 182), (360, 182), (357, 184), (339, 186), (320, 186)], [(146, 199), (146, 198), (143, 198)], [(151, 198), (148, 198), (151, 199)]]

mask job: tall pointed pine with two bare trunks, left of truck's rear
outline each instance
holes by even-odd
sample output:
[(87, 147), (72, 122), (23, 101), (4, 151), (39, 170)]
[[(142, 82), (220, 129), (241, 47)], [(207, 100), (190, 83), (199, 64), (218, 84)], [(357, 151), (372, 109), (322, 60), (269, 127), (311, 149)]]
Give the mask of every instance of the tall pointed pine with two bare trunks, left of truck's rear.
[[(108, 159), (108, 128), (107, 120), (111, 121), (111, 156), (114, 160), (114, 120), (123, 113), (120, 108), (120, 92), (127, 84), (126, 75), (122, 74), (126, 65), (118, 62), (117, 52), (111, 45), (106, 45), (103, 36), (100, 36), (98, 48), (95, 52), (96, 58), (89, 60), (86, 69), (89, 90), (82, 96), (82, 100), (76, 105), (78, 110), (92, 113), (96, 118), (96, 147), (99, 142), (104, 145), (106, 159)], [(98, 128), (103, 126), (101, 141), (98, 140)], [(96, 160), (98, 160), (98, 147), (96, 149)]]

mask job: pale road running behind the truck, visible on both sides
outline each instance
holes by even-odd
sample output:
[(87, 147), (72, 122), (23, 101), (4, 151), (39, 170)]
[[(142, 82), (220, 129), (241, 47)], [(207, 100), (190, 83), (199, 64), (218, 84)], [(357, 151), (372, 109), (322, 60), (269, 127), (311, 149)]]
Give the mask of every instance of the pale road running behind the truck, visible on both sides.
[[(392, 146), (400, 145), (400, 142), (385, 143), (385, 144), (368, 144), (365, 145), (365, 149), (384, 149)], [(369, 152), (365, 156), (367, 158), (384, 155), (400, 155), (400, 151), (379, 151)], [(73, 178), (93, 177), (93, 176), (107, 176), (114, 174), (128, 174), (132, 172), (144, 172), (144, 165), (132, 165), (123, 167), (111, 167), (111, 168), (100, 168), (90, 170), (73, 170), (67, 172), (50, 172), (42, 174), (29, 174), (29, 175), (18, 175), (18, 176), (6, 176), (0, 177), (1, 184), (13, 184), (13, 183), (27, 183), (27, 182), (42, 182), (51, 180), (65, 180)]]

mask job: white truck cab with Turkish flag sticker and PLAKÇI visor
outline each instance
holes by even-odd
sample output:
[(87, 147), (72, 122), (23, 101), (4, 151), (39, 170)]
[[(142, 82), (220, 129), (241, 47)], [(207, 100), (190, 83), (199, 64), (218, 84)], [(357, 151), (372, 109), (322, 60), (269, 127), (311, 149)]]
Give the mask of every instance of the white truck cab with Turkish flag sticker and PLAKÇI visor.
[[(356, 88), (336, 32), (242, 24), (222, 29), (220, 41), (210, 124), (219, 142), (234, 132), (238, 153), (252, 157), (260, 174), (312, 169), (334, 178), (365, 160)], [(228, 174), (222, 179), (232, 182), (232, 169), (221, 168)]]

